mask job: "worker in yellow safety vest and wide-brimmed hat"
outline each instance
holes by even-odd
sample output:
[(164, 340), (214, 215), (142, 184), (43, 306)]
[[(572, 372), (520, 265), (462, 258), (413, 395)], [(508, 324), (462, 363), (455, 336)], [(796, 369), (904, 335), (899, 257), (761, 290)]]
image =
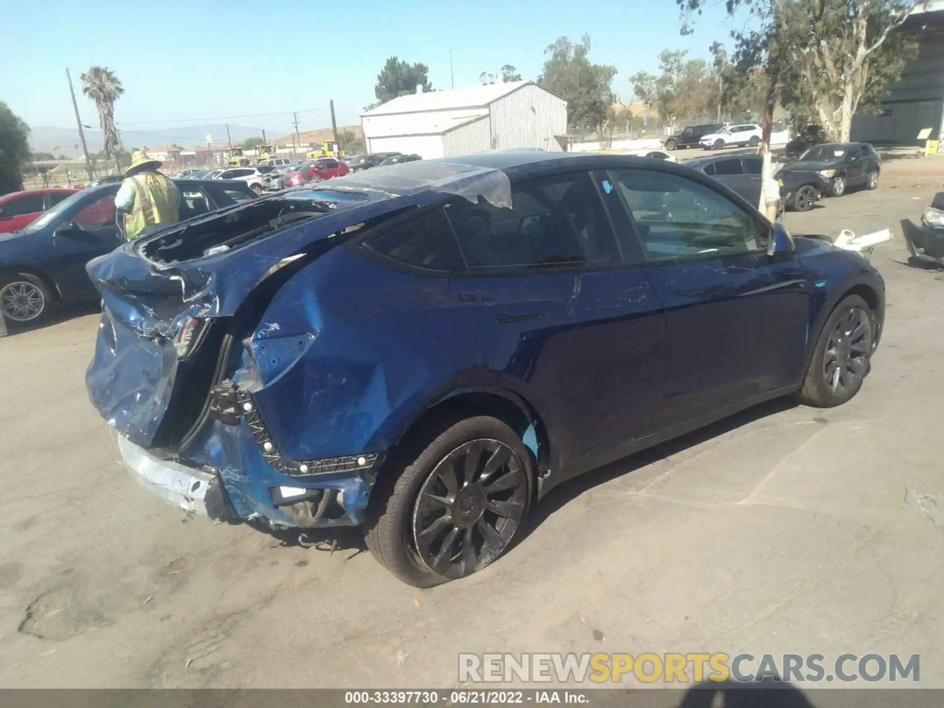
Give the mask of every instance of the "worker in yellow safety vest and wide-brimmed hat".
[(180, 220), (180, 192), (158, 172), (159, 167), (160, 160), (151, 160), (143, 150), (135, 150), (131, 156), (131, 166), (115, 194), (115, 209), (125, 212), (126, 239), (137, 238), (146, 228)]

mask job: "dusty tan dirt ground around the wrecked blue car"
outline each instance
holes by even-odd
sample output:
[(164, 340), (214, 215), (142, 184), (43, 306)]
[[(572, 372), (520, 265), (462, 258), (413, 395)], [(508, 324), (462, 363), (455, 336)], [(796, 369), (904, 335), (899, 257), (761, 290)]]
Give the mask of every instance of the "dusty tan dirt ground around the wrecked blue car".
[(85, 393), (94, 313), (0, 340), (0, 686), (450, 687), (461, 651), (651, 650), (920, 654), (944, 687), (944, 274), (898, 228), (942, 181), (944, 160), (889, 160), (877, 191), (787, 214), (899, 234), (849, 404), (774, 402), (598, 469), (428, 591), (356, 533), (301, 548), (147, 494)]

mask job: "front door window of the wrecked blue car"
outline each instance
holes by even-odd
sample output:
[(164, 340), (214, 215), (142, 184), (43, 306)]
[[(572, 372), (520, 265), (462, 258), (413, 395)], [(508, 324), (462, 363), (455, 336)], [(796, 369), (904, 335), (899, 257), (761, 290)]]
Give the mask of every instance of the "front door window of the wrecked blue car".
[(614, 177), (649, 261), (750, 253), (767, 244), (760, 221), (705, 185), (648, 170)]

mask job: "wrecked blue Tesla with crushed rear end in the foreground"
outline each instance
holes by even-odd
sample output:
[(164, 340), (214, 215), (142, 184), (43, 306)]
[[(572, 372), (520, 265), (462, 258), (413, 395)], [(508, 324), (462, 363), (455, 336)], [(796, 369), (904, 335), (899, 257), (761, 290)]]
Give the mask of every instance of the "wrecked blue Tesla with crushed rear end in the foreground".
[(849, 400), (885, 286), (658, 160), (492, 153), (213, 211), (88, 266), (86, 381), (150, 491), (360, 526), (426, 586), (584, 471), (775, 396)]

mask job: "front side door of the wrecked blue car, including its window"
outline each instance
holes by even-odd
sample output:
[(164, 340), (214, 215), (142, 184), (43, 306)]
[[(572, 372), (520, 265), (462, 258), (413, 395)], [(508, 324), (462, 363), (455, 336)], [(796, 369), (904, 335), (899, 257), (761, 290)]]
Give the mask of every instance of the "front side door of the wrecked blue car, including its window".
[(673, 422), (798, 385), (812, 282), (797, 259), (767, 255), (767, 221), (693, 177), (613, 177), (666, 305)]

